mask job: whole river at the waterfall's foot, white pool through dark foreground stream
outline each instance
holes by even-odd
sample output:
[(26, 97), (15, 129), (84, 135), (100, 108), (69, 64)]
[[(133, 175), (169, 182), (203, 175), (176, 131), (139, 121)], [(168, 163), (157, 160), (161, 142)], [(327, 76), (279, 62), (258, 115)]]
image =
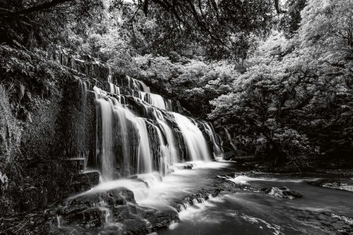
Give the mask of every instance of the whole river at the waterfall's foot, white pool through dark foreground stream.
[[(345, 190), (317, 186), (328, 176), (313, 174), (249, 173), (239, 175), (234, 162), (192, 162), (193, 169), (178, 169), (160, 181), (157, 174), (140, 175), (148, 183), (117, 180), (101, 183), (92, 191), (124, 186), (133, 191), (136, 203), (157, 210), (170, 210), (175, 201), (195, 195), (205, 187), (222, 181), (250, 188), (286, 186), (304, 194), (286, 199), (254, 190), (239, 188), (221, 191), (208, 200), (186, 205), (179, 212), (179, 222), (153, 234), (352, 234), (353, 180), (333, 178)], [(234, 174), (234, 177), (229, 177)], [(228, 175), (227, 178), (222, 176)], [(314, 182), (314, 183), (311, 183)], [(332, 186), (327, 184), (326, 186)], [(342, 188), (342, 187), (341, 187)], [(194, 200), (195, 201), (195, 200)]]

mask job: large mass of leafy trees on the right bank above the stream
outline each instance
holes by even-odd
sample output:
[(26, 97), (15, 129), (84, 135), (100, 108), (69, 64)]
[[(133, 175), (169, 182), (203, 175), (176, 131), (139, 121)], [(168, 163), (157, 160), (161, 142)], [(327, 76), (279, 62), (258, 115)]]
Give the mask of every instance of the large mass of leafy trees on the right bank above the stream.
[(232, 92), (211, 102), (209, 118), (242, 135), (238, 146), (262, 138), (260, 155), (299, 167), (310, 157), (352, 160), (349, 9), (352, 1), (308, 1), (297, 34), (273, 31), (259, 42)]

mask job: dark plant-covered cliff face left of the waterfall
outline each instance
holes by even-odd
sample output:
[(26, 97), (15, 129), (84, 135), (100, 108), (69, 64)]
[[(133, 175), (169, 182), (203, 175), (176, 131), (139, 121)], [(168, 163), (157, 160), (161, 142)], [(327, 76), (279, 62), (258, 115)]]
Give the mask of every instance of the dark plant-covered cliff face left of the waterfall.
[(107, 66), (62, 49), (40, 54), (7, 46), (1, 64), (0, 171), (9, 179), (1, 211), (42, 209), (97, 184), (97, 172), (81, 174), (77, 159), (95, 155), (96, 138), (94, 95), (83, 103), (79, 84), (102, 83)]

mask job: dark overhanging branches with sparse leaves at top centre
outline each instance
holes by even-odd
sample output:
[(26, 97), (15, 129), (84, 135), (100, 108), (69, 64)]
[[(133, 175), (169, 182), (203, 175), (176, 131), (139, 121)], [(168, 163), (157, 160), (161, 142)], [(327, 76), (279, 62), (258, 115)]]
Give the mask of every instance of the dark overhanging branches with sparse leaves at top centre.
[(122, 25), (139, 54), (174, 51), (189, 58), (245, 59), (252, 35), (265, 35), (274, 13), (272, 0), (113, 3), (124, 9)]

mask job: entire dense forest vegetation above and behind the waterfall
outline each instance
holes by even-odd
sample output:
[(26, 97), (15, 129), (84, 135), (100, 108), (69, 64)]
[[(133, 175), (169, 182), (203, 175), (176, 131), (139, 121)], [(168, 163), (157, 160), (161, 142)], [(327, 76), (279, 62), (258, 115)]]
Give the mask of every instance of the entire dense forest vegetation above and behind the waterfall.
[(30, 94), (65, 76), (36, 61), (60, 47), (180, 100), (235, 155), (299, 169), (349, 162), (352, 9), (347, 0), (2, 1), (0, 83), (30, 119)]

